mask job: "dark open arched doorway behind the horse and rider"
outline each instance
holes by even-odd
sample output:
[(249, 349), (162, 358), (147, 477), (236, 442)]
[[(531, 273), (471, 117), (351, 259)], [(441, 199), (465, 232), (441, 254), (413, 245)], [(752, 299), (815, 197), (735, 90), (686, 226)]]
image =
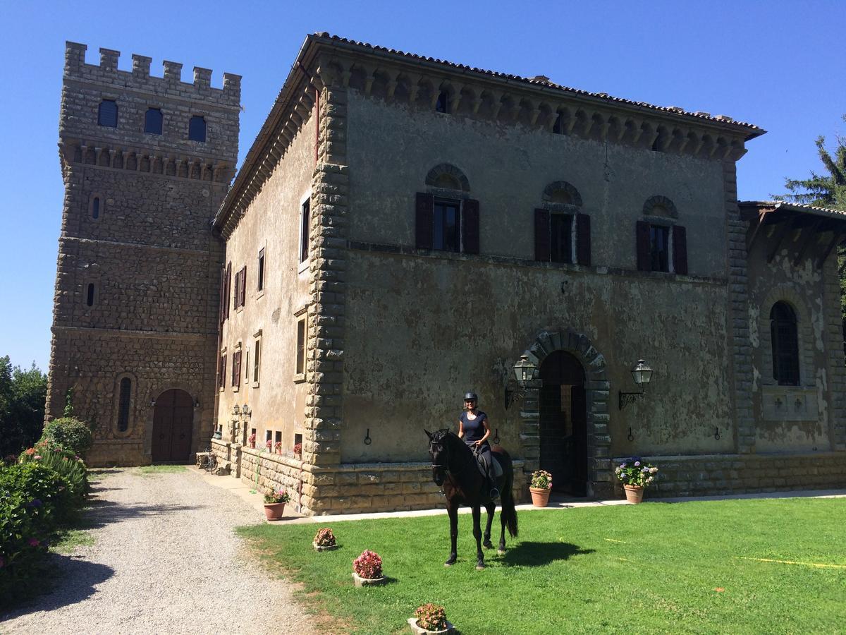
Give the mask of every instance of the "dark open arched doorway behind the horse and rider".
[(585, 370), (574, 356), (554, 351), (541, 363), (541, 470), (552, 473), (552, 488), (587, 494), (587, 407)]

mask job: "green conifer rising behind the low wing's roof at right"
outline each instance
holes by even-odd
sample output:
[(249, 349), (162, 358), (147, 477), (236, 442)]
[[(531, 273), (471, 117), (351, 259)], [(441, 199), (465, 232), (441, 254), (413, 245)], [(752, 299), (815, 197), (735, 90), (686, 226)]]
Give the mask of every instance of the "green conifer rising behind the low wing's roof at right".
[[(846, 122), (846, 114), (843, 115)], [(846, 212), (846, 138), (834, 135), (837, 146), (826, 150), (826, 138), (816, 138), (816, 150), (827, 174), (811, 171), (810, 179), (784, 179), (789, 194), (775, 196), (778, 201), (830, 207)], [(838, 246), (838, 274), (840, 276), (840, 312), (843, 316), (843, 335), (846, 339), (846, 248)]]

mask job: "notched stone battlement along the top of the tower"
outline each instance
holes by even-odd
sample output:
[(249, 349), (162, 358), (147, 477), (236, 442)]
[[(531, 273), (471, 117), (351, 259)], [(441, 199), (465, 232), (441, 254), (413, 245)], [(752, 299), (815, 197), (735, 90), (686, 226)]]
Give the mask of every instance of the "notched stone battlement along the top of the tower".
[(181, 79), (182, 64), (164, 60), (162, 77), (150, 75), (152, 58), (145, 55), (132, 55), (132, 70), (118, 69), (120, 51), (111, 48), (100, 49), (100, 64), (85, 63), (85, 51), (88, 46), (78, 42), (65, 42), (64, 75), (75, 80), (94, 81), (114, 84), (157, 94), (172, 94), (185, 99), (213, 102), (215, 104), (239, 107), (241, 102), (241, 76), (232, 73), (223, 74), (223, 87), (211, 86), (211, 69), (194, 67), (194, 82), (189, 84)]

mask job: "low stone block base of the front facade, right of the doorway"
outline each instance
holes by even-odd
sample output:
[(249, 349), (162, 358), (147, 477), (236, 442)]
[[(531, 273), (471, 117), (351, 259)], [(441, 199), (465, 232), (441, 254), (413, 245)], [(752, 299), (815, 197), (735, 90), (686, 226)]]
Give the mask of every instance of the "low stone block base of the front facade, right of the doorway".
[[(625, 458), (615, 459), (615, 466)], [(846, 454), (649, 456), (658, 478), (649, 496), (706, 496), (846, 488)], [(623, 495), (620, 483), (615, 493)]]

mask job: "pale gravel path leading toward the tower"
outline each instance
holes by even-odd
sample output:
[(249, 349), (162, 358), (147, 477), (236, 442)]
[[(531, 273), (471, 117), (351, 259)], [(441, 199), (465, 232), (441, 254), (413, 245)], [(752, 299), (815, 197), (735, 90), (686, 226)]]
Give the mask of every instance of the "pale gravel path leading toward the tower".
[(234, 535), (261, 522), (250, 505), (195, 472), (110, 472), (94, 484), (95, 544), (52, 555), (55, 590), (3, 616), (0, 632), (317, 632)]

